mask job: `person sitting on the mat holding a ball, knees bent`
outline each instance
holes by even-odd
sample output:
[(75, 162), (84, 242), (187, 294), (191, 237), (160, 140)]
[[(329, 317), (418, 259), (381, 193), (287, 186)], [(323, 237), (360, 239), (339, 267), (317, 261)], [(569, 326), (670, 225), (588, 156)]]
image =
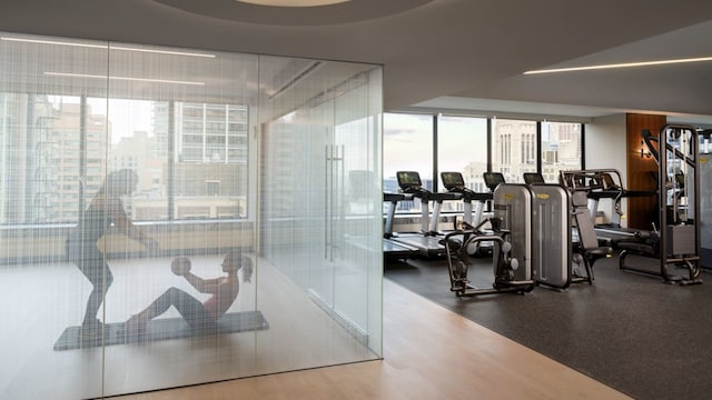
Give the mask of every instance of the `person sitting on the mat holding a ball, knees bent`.
[(239, 279), (237, 271), (243, 270), (243, 279), (249, 282), (253, 276), (253, 266), (249, 258), (243, 258), (239, 251), (230, 251), (222, 260), (222, 271), (227, 277), (215, 279), (202, 279), (190, 272), (190, 259), (177, 257), (170, 264), (174, 273), (186, 278), (190, 284), (201, 293), (212, 294), (201, 303), (198, 299), (187, 292), (170, 288), (154, 300), (141, 312), (132, 316), (126, 322), (129, 332), (144, 332), (146, 323), (151, 319), (168, 311), (172, 306), (180, 316), (188, 322), (190, 328), (200, 329), (212, 327), (217, 320), (233, 306), (239, 292)]

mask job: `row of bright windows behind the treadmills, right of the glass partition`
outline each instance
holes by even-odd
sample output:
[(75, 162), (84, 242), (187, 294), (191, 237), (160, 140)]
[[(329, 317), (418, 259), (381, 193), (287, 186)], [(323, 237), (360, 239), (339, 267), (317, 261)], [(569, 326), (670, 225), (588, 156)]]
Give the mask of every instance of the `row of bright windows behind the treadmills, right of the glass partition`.
[[(502, 172), (510, 183), (523, 183), (525, 172), (541, 172), (546, 182), (554, 183), (560, 170), (582, 168), (582, 136), (583, 126), (574, 122), (386, 113), (384, 191), (398, 191), (396, 171), (418, 172), (428, 190), (434, 190), (433, 171), (461, 172), (475, 192), (488, 190), (483, 181), (483, 173), (488, 170)], [(439, 182), (439, 177), (435, 178)], [(438, 184), (435, 190), (445, 188)], [(443, 204), (444, 211), (459, 206)], [(398, 203), (398, 212), (407, 211), (419, 211), (417, 199)]]

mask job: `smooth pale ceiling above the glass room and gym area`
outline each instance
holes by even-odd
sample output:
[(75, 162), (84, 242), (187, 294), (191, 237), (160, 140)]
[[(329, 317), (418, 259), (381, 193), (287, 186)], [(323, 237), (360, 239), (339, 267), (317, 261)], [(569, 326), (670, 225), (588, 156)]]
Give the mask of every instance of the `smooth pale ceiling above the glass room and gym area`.
[(0, 31), (378, 63), (386, 110), (572, 119), (630, 111), (712, 123), (712, 62), (522, 74), (712, 56), (712, 1), (353, 0), (286, 9), (295, 10), (234, 0), (2, 0)]

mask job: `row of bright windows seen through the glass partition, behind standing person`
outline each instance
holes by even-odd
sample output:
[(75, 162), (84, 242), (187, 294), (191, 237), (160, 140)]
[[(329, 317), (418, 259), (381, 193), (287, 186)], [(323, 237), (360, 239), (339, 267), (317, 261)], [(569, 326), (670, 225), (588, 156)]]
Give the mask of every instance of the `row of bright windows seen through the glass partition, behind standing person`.
[[(246, 210), (246, 107), (191, 104), (176, 113), (174, 123), (181, 129), (176, 130), (174, 138), (178, 154), (174, 161), (168, 151), (168, 102), (110, 99), (107, 103), (100, 98), (12, 93), (2, 93), (0, 99), (4, 110), (0, 136), (7, 144), (3, 158), (8, 166), (13, 166), (2, 174), (7, 190), (0, 223), (73, 223), (88, 199), (103, 184), (107, 170), (122, 168), (135, 169), (141, 177), (137, 191), (127, 199), (136, 220), (168, 218), (169, 197), (177, 201), (176, 206), (186, 197), (207, 197), (216, 202), (211, 208), (224, 209), (224, 200), (230, 199), (234, 203), (227, 208)], [(33, 123), (10, 123), (17, 113), (13, 110), (28, 108), (34, 112)], [(209, 121), (208, 117), (221, 120)], [(233, 121), (230, 124), (226, 123), (228, 119)], [(19, 138), (24, 138), (21, 146), (31, 148), (31, 153), (17, 151), (20, 143), (13, 141)], [(107, 146), (111, 148), (108, 163), (103, 158)], [(174, 177), (195, 184), (177, 182), (188, 189), (172, 193), (166, 181), (169, 162), (197, 163), (188, 177)], [(214, 163), (220, 166), (210, 167)], [(215, 176), (222, 178), (217, 184), (224, 192), (216, 193), (215, 186), (207, 184)], [(172, 214), (179, 218), (179, 213)], [(247, 217), (244, 212), (220, 214)]]

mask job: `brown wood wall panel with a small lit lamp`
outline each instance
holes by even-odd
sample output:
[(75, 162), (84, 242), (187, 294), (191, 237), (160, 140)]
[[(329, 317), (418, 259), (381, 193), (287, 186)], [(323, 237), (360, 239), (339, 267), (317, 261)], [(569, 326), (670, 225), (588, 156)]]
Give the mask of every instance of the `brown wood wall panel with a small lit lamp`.
[[(649, 129), (656, 134), (665, 126), (665, 116), (649, 116), (629, 113), (625, 116), (626, 131), (626, 168), (627, 190), (656, 191), (657, 163), (652, 157), (646, 157), (647, 148), (641, 143), (641, 131)], [(643, 149), (643, 157), (641, 157)], [(657, 223), (657, 196), (632, 197), (627, 199), (627, 226), (635, 229), (651, 229), (651, 222)]]

